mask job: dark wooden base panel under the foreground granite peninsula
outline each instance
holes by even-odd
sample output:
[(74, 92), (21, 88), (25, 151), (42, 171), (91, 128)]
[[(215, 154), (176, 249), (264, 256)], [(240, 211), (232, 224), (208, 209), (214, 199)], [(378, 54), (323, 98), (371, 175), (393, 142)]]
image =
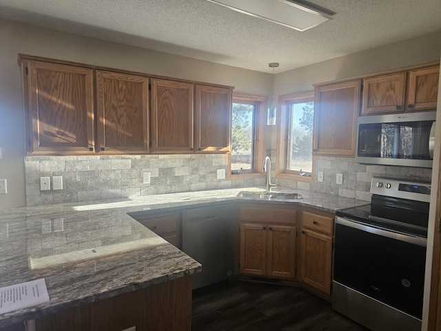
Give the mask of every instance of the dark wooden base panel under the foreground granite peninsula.
[(192, 276), (43, 315), (36, 331), (192, 330)]

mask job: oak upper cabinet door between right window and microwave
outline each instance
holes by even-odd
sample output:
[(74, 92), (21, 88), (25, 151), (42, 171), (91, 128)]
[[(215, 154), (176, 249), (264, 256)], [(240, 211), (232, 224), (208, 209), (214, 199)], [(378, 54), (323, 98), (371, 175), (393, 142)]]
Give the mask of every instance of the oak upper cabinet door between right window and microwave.
[(318, 86), (314, 102), (314, 155), (353, 157), (360, 80)]

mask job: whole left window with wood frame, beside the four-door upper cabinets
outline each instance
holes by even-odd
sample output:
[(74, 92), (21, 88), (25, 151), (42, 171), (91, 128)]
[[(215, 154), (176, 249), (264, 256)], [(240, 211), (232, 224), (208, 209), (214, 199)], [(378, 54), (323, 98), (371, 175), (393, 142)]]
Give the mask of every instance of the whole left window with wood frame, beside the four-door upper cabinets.
[(265, 121), (267, 99), (251, 94), (233, 94), (232, 178), (260, 175), (265, 152)]

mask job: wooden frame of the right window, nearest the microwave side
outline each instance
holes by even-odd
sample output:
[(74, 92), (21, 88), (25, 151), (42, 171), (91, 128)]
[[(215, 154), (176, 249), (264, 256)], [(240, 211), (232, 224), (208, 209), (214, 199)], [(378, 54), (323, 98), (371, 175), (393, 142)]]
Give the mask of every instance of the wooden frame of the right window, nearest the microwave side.
[[(291, 94), (283, 94), (278, 97), (278, 116), (276, 120), (277, 128), (277, 143), (276, 143), (276, 178), (279, 179), (294, 179), (296, 181), (306, 181), (309, 183), (314, 182), (315, 173), (315, 157), (314, 153), (311, 152), (312, 157), (312, 170), (310, 172), (311, 176), (301, 176), (300, 171), (288, 170), (287, 169), (287, 148), (289, 146), (289, 105), (292, 103), (303, 103), (303, 102), (314, 102), (314, 108), (316, 107), (314, 101), (314, 90), (307, 92), (297, 92)], [(315, 109), (314, 109), (315, 117)], [(314, 132), (313, 128), (313, 132)], [(314, 136), (314, 134), (313, 134)], [(313, 141), (314, 143), (314, 141)], [(311, 146), (314, 148), (314, 146)]]

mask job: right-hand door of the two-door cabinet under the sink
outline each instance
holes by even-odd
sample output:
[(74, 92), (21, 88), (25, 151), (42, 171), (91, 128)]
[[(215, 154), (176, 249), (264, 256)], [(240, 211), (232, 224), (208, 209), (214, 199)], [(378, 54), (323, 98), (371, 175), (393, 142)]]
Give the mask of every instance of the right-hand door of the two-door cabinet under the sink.
[(295, 267), (296, 227), (268, 225), (267, 275), (294, 279)]

